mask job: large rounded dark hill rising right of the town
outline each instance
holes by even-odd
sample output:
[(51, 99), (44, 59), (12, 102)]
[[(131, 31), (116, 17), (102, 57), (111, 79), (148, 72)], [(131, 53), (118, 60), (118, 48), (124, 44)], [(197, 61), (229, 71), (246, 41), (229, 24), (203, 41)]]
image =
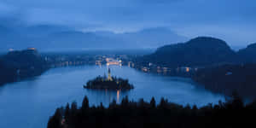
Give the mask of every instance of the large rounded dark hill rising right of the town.
[(186, 43), (160, 47), (152, 55), (140, 58), (144, 64), (152, 62), (168, 67), (201, 67), (236, 61), (236, 52), (218, 38), (193, 38)]

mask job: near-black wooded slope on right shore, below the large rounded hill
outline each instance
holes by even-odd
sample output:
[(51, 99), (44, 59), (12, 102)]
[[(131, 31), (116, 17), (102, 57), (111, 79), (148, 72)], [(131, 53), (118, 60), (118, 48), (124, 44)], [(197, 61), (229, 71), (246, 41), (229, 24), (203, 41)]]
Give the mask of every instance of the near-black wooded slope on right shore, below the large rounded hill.
[(256, 64), (222, 65), (199, 69), (193, 79), (206, 89), (230, 96), (233, 90), (241, 96), (256, 97)]

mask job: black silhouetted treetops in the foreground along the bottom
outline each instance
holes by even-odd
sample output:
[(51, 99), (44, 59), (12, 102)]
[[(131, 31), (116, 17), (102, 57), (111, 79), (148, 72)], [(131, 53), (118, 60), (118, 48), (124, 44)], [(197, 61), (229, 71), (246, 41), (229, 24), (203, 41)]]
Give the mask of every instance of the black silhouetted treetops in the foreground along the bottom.
[(89, 106), (85, 96), (82, 107), (76, 102), (57, 108), (49, 118), (48, 128), (233, 128), (255, 127), (256, 102), (247, 105), (234, 93), (228, 102), (205, 107), (181, 106), (165, 99), (157, 105), (150, 102), (131, 102), (125, 97), (108, 108)]

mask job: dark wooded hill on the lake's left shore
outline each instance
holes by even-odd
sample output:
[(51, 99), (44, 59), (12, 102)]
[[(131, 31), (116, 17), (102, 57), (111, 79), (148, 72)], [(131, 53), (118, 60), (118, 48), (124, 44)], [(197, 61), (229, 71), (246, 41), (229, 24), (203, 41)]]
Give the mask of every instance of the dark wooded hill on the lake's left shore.
[(49, 65), (36, 49), (11, 51), (7, 55), (0, 56), (0, 85), (37, 76), (48, 67)]

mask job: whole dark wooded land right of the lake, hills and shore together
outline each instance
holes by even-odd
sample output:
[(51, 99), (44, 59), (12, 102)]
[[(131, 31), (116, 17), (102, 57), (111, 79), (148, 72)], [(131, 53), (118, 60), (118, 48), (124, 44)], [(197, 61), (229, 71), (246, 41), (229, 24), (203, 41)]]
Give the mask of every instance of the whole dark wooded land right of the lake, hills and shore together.
[[(237, 90), (243, 97), (255, 98), (255, 56), (256, 44), (236, 52), (221, 39), (199, 37), (160, 47), (153, 54), (135, 60), (138, 69), (148, 67), (154, 71), (157, 67), (168, 67), (172, 70), (170, 75), (190, 77), (208, 90), (228, 96)], [(191, 70), (177, 72), (179, 67), (191, 67)]]

